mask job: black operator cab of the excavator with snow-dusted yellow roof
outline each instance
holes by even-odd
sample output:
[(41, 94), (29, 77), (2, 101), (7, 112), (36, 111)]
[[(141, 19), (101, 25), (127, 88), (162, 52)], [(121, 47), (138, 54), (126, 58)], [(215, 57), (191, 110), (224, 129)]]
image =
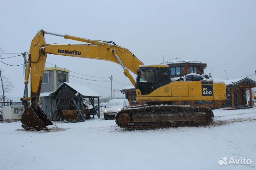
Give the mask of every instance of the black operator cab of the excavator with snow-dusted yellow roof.
[(170, 67), (166, 64), (140, 65), (136, 89), (142, 95), (150, 94), (159, 87), (171, 83)]

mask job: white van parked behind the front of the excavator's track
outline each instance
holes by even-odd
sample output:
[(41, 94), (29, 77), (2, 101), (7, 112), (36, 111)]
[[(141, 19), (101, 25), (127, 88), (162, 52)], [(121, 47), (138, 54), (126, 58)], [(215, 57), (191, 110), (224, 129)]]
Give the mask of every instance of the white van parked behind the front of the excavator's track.
[(113, 99), (110, 100), (104, 110), (104, 119), (108, 120), (108, 118), (110, 119), (114, 119), (114, 116), (116, 115), (117, 111), (119, 109), (125, 108), (125, 107), (129, 107), (129, 101), (127, 99)]

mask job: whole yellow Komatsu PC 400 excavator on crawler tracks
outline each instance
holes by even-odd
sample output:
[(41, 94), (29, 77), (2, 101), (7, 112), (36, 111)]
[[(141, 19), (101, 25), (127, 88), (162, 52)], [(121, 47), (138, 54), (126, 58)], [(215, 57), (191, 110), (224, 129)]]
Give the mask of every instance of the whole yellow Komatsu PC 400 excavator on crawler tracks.
[[(47, 44), (45, 34), (77, 40), (86, 44)], [(171, 81), (170, 67), (165, 64), (144, 65), (128, 49), (114, 42), (90, 40), (39, 31), (31, 42), (25, 84), (31, 71), (31, 97), (22, 98), (25, 111), (21, 117), (25, 130), (48, 130), (53, 125), (38, 106), (47, 54), (107, 60), (120, 64), (133, 86), (136, 100), (146, 105), (121, 109), (116, 114), (116, 124), (128, 129), (150, 129), (175, 126), (201, 126), (213, 121), (213, 112), (206, 107), (173, 105), (173, 101), (221, 101), (226, 99), (224, 83), (210, 81), (201, 75), (192, 75), (191, 81), (181, 78)], [(135, 81), (130, 72), (137, 74)], [(193, 79), (193, 76), (197, 76)], [(198, 77), (201, 78), (198, 80)], [(31, 100), (30, 107), (28, 100)]]

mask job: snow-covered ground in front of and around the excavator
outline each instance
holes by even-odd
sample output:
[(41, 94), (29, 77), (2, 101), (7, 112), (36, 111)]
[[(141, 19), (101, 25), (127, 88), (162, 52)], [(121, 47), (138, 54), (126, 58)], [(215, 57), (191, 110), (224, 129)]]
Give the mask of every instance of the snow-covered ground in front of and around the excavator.
[[(256, 169), (256, 108), (214, 110), (208, 127), (128, 131), (114, 120), (29, 132), (0, 123), (0, 169)], [(221, 157), (250, 165), (219, 165)]]

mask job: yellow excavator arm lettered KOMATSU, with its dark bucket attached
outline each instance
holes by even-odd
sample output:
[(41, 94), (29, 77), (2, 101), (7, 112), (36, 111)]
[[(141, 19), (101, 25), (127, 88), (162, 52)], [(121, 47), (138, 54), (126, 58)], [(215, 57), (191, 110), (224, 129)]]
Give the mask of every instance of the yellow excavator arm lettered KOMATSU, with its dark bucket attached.
[[(87, 44), (47, 44), (44, 38), (44, 34), (57, 35), (64, 37), (65, 39), (77, 40)], [(21, 100), (23, 103), (26, 103), (27, 100), (31, 100), (31, 106), (30, 108), (27, 108), (27, 111), (25, 111), (25, 114), (22, 116), (22, 127), (25, 129), (31, 129), (31, 127), (33, 127), (33, 129), (37, 128), (39, 130), (46, 129), (47, 125), (52, 125), (52, 122), (44, 114), (43, 110), (38, 107), (38, 100), (41, 91), (47, 54), (115, 62), (123, 67), (124, 74), (130, 79), (133, 86), (135, 87), (135, 80), (128, 70), (136, 74), (139, 66), (143, 65), (143, 63), (128, 49), (118, 46), (114, 43), (114, 45), (111, 45), (111, 43), (113, 42), (108, 43), (101, 40), (89, 40), (71, 35), (50, 33), (44, 30), (39, 31), (33, 38), (30, 46), (25, 84), (28, 84), (31, 71), (31, 97), (22, 98)], [(33, 117), (33, 120), (37, 120), (37, 118), (34, 117), (35, 115), (38, 116), (38, 121), (31, 123), (31, 117)], [(28, 122), (30, 122), (30, 124), (28, 124)], [(41, 125), (38, 126), (38, 124)]]

